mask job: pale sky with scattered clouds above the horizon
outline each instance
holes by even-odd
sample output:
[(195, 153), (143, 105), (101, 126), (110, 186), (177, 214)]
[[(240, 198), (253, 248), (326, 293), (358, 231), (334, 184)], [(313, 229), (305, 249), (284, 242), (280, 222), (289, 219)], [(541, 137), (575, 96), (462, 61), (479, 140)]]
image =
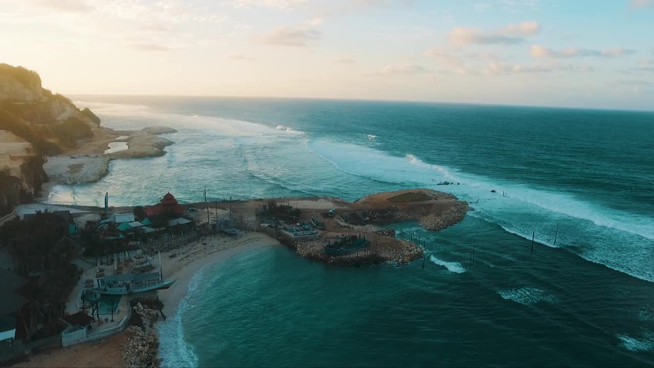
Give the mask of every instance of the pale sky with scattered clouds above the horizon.
[(62, 94), (654, 109), (654, 0), (0, 0)]

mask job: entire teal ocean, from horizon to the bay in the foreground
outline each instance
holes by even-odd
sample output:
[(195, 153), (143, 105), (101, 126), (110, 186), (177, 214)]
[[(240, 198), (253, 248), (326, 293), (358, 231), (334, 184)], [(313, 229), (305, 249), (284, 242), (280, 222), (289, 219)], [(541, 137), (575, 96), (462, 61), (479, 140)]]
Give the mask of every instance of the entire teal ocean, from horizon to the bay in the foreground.
[(198, 202), (205, 187), (211, 199), (355, 200), (429, 187), (475, 208), (426, 232), (424, 270), (326, 267), (285, 248), (205, 267), (162, 324), (164, 366), (654, 365), (653, 112), (75, 100), (111, 128), (179, 132), (165, 135), (175, 145), (164, 156), (115, 160), (50, 202), (101, 205), (109, 192), (111, 206), (154, 204), (167, 191)]

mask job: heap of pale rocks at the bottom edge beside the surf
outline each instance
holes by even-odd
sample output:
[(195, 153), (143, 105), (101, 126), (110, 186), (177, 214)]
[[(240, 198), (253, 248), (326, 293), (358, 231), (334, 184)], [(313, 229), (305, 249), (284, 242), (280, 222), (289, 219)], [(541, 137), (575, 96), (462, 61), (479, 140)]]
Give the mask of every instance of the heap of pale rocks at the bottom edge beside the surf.
[(122, 349), (126, 367), (160, 367), (162, 359), (157, 358), (159, 340), (156, 335), (134, 325), (129, 326), (127, 331), (131, 333), (131, 336)]

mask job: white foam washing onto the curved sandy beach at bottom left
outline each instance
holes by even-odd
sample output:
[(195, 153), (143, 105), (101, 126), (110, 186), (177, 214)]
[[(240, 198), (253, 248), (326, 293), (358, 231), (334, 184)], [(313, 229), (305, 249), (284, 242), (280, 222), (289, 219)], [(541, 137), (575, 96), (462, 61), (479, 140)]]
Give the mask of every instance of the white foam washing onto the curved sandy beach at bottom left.
[(156, 326), (160, 330), (159, 358), (163, 358), (162, 367), (198, 367), (198, 356), (195, 348), (184, 340), (184, 327), (182, 318), (184, 314), (194, 308), (190, 303), (198, 285), (205, 276), (205, 267), (193, 275), (188, 282), (188, 291), (175, 310), (173, 316), (169, 316), (163, 323)]

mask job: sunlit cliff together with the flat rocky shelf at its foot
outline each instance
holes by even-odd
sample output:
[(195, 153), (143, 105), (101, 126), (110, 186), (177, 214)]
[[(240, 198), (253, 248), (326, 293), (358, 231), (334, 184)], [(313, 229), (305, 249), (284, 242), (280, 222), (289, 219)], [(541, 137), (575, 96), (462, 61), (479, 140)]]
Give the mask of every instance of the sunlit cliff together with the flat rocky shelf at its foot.
[[(173, 132), (106, 128), (90, 109), (43, 88), (35, 71), (0, 64), (0, 217), (47, 191), (46, 182), (97, 181), (111, 160), (161, 156), (173, 142), (158, 134)], [(104, 155), (114, 141), (127, 149)]]

